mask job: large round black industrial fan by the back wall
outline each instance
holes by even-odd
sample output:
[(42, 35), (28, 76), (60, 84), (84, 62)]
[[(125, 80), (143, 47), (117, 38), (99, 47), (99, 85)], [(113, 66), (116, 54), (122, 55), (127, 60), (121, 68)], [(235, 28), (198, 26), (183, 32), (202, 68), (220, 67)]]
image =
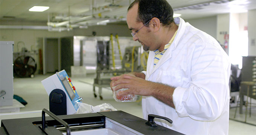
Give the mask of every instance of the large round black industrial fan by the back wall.
[(36, 70), (35, 59), (28, 55), (21, 55), (14, 61), (14, 75), (17, 77), (34, 77)]

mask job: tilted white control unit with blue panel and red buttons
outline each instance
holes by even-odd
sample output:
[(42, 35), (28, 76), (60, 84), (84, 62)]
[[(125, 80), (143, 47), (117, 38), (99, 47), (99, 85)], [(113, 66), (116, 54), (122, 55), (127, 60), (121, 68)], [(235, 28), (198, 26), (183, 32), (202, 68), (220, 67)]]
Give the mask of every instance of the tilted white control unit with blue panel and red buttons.
[(82, 97), (78, 96), (76, 88), (65, 70), (56, 72), (41, 82), (49, 95), (49, 106), (52, 113), (55, 115), (76, 113), (79, 108), (77, 102), (80, 102)]

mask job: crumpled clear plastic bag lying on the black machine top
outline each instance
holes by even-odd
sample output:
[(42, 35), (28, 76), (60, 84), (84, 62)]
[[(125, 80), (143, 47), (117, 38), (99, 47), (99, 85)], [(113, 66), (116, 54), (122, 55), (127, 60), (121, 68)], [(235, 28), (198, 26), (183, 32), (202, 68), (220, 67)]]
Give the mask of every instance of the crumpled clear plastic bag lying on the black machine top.
[(75, 114), (84, 114), (84, 113), (97, 113), (101, 111), (117, 111), (112, 105), (108, 103), (103, 103), (93, 107), (92, 105), (88, 105), (82, 102), (77, 102), (79, 108)]

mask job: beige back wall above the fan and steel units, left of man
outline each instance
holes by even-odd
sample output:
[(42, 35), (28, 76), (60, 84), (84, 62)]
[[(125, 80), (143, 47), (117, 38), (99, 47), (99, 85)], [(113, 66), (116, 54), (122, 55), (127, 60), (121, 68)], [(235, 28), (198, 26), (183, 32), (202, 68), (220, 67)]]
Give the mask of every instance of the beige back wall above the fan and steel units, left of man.
[[(33, 22), (13, 22), (1, 21), (1, 25), (37, 25), (45, 26), (45, 23)], [(39, 69), (38, 49), (43, 49), (42, 43), (38, 43), (39, 37), (67, 37), (67, 36), (91, 36), (92, 31), (96, 32), (96, 36), (110, 36), (111, 33), (119, 36), (130, 36), (131, 31), (128, 26), (124, 24), (108, 24), (107, 26), (91, 26), (87, 29), (74, 28), (71, 31), (48, 31), (48, 30), (26, 30), (26, 29), (0, 29), (1, 41), (14, 41), (14, 52), (21, 51), (22, 47), (26, 47), (28, 51), (36, 51), (32, 54), (37, 62), (37, 69)], [(24, 46), (23, 43), (24, 42)], [(20, 43), (18, 43), (20, 42)], [(18, 45), (17, 45), (18, 43)], [(38, 72), (38, 71), (37, 71)], [(36, 74), (37, 74), (36, 72)]]

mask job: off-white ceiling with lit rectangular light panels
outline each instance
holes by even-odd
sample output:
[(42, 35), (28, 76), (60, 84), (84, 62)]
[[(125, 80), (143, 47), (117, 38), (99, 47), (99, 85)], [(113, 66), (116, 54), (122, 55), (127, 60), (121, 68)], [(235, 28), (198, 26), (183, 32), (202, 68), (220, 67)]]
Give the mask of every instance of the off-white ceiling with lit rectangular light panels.
[[(256, 9), (256, 0), (167, 0), (183, 19)], [(125, 21), (133, 0), (0, 0), (0, 20), (62, 22), (93, 15)], [(49, 6), (44, 12), (29, 12), (33, 6)], [(181, 8), (183, 7), (183, 8)], [(90, 18), (91, 19), (91, 18)], [(90, 20), (87, 19), (87, 20)]]

